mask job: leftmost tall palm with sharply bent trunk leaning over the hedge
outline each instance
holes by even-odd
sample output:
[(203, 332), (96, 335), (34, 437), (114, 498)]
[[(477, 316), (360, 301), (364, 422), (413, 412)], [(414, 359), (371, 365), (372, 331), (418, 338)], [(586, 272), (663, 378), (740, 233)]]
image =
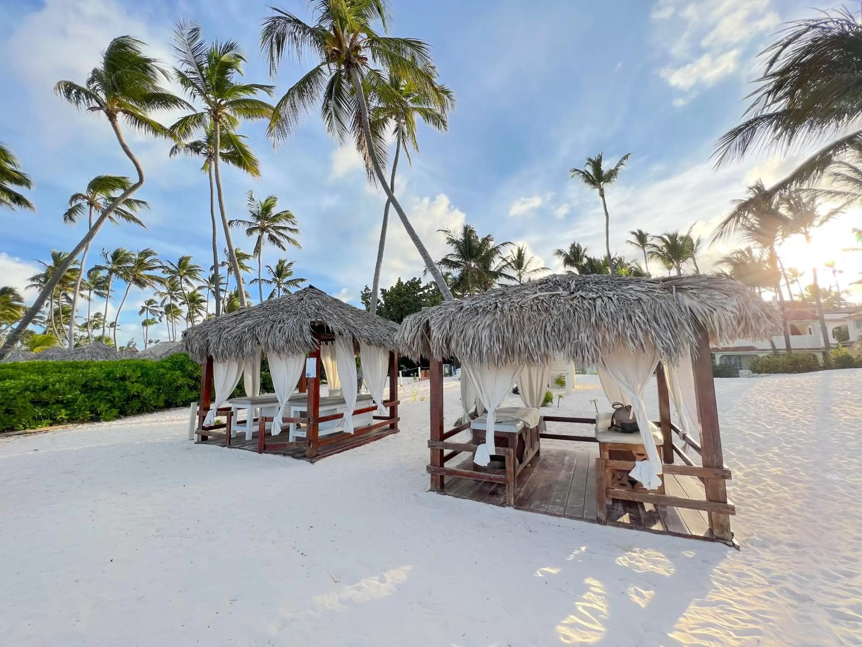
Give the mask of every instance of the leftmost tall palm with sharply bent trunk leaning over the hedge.
[[(58, 281), (84, 248), (92, 242), (114, 210), (131, 198), (144, 184), (144, 169), (131, 148), (128, 148), (120, 129), (121, 117), (129, 126), (148, 135), (167, 135), (166, 129), (153, 121), (149, 113), (153, 110), (170, 110), (187, 105), (181, 98), (175, 97), (159, 85), (162, 80), (170, 79), (170, 76), (159, 61), (144, 56), (141, 51), (143, 45), (143, 42), (131, 36), (119, 36), (110, 41), (108, 48), (103, 52), (101, 65), (93, 68), (84, 85), (78, 85), (72, 81), (60, 81), (54, 86), (54, 91), (79, 110), (88, 110), (107, 117), (116, 141), (134, 165), (138, 175), (134, 184), (117, 195), (103, 209), (84, 238), (72, 249), (66, 259), (66, 265), (58, 268), (59, 272), (55, 277)], [(3, 343), (0, 359), (15, 346), (18, 338), (22, 336), (24, 330), (27, 330), (33, 317), (41, 310), (55, 286), (55, 282), (49, 282), (42, 288), (21, 322)]]

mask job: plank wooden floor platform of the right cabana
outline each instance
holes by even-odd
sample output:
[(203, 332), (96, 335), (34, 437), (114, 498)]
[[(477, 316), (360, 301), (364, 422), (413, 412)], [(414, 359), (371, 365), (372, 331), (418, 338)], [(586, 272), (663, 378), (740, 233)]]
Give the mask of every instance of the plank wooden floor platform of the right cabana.
[[(589, 451), (543, 448), (518, 476), (515, 508), (595, 523), (596, 458), (597, 454)], [(459, 467), (470, 468), (470, 461)], [(673, 496), (705, 499), (703, 485), (690, 476), (665, 474), (665, 489)], [(506, 487), (499, 483), (447, 477), (443, 493), (492, 506), (506, 505)], [(614, 500), (608, 509), (608, 524), (715, 541), (709, 531), (706, 514), (671, 506)]]

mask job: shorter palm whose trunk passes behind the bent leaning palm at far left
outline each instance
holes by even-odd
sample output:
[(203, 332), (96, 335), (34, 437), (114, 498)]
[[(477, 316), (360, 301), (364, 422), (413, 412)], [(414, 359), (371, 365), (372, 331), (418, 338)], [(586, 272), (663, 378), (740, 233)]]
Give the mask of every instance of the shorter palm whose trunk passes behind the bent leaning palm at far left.
[[(105, 210), (109, 204), (116, 198), (116, 192), (126, 191), (132, 182), (128, 178), (123, 178), (117, 175), (97, 175), (87, 183), (87, 188), (82, 193), (72, 193), (69, 198), (69, 208), (63, 214), (63, 222), (66, 224), (78, 223), (78, 218), (84, 215), (84, 211), (88, 215), (88, 229), (93, 226), (93, 216)], [(149, 204), (145, 200), (135, 198), (126, 198), (119, 204), (114, 212), (109, 216), (112, 223), (117, 224), (119, 220), (126, 223), (132, 223), (147, 229), (147, 225), (141, 221), (141, 218), (135, 216), (141, 209), (149, 209)], [(84, 246), (84, 254), (81, 256), (81, 269), (86, 271), (87, 254), (90, 253), (90, 244)], [(72, 350), (74, 341), (72, 339), (72, 330), (75, 326), (75, 318), (78, 315), (78, 294), (81, 290), (81, 280), (84, 279), (84, 272), (78, 273), (78, 282), (75, 284), (75, 292), (72, 295), (72, 320), (69, 322), (69, 349)], [(89, 317), (88, 317), (89, 318)]]

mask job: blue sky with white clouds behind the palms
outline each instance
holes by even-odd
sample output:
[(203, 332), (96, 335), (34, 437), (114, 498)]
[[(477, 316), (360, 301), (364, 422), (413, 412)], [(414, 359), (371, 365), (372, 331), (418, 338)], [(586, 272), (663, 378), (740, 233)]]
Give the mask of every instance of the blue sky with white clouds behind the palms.
[[(285, 60), (270, 80), (258, 39), (273, 2), (0, 3), (0, 141), (34, 179), (30, 198), (37, 207), (35, 213), (0, 211), (0, 285), (23, 289), (38, 271), (37, 259), (72, 248), (84, 235), (83, 223), (62, 222), (73, 192), (98, 174), (134, 175), (108, 123), (65, 104), (53, 85), (83, 83), (118, 35), (146, 41), (147, 53), (172, 64), (172, 30), (178, 19), (191, 19), (208, 40), (240, 42), (246, 79), (277, 85), (280, 97), (309, 61)], [(311, 18), (304, 1), (279, 6)], [(832, 6), (813, 0), (393, 0), (390, 33), (428, 41), (441, 81), (457, 99), (446, 133), (421, 127), (419, 154), (412, 166), (399, 168), (397, 197), (434, 258), (447, 251), (439, 229), (471, 223), (497, 242), (528, 245), (540, 265), (559, 270), (555, 248), (578, 241), (592, 254), (603, 250), (599, 198), (570, 179), (569, 169), (599, 152), (611, 161), (631, 153), (608, 191), (612, 250), (640, 258), (626, 244), (635, 228), (659, 234), (693, 227), (708, 236), (747, 185), (757, 179), (769, 185), (798, 159), (764, 154), (719, 169), (710, 160), (715, 141), (746, 107), (762, 62), (757, 54), (782, 23)], [(359, 292), (372, 282), (385, 199), (368, 185), (359, 156), (331, 140), (314, 113), (278, 148), (262, 122), (241, 132), (259, 155), (262, 177), (223, 171), (228, 217), (246, 216), (249, 190), (259, 198), (277, 196), (297, 216), (303, 248), (265, 249), (263, 262), (287, 256), (298, 276), (359, 305)], [(143, 213), (147, 229), (106, 225), (91, 258), (102, 248), (153, 248), (172, 261), (191, 254), (209, 268), (209, 190), (199, 162), (169, 159), (166, 141), (134, 132), (128, 141), (147, 175), (136, 196), (151, 205)], [(834, 260), (844, 289), (862, 272), (862, 254), (841, 252), (853, 245), (850, 228), (860, 223), (858, 212), (849, 213), (821, 229), (811, 248), (791, 241), (785, 265), (804, 270)], [(423, 268), (397, 218), (389, 231), (383, 286)], [(233, 236), (251, 251), (253, 241), (241, 230)], [(721, 245), (705, 250), (701, 268), (727, 251)], [(852, 295), (862, 300), (862, 292)], [(147, 296), (136, 289), (129, 294), (121, 342), (134, 337), (142, 345), (137, 311)], [(164, 327), (153, 327), (151, 336), (165, 339)]]

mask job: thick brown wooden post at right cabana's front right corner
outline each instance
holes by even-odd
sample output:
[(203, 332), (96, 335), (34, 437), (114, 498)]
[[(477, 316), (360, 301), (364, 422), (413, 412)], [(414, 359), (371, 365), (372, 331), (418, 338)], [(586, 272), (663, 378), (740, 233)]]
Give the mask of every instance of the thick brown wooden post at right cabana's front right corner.
[[(704, 468), (723, 468), (721, 434), (718, 428), (718, 404), (715, 401), (715, 380), (712, 376), (712, 356), (709, 353), (709, 332), (701, 324), (695, 324), (696, 348), (692, 367), (695, 376), (697, 412), (701, 420), (701, 458)], [(704, 479), (706, 499), (718, 503), (728, 502), (728, 488), (724, 479)], [(730, 531), (730, 517), (720, 512), (709, 512), (709, 528), (716, 539), (729, 542), (734, 533)]]

